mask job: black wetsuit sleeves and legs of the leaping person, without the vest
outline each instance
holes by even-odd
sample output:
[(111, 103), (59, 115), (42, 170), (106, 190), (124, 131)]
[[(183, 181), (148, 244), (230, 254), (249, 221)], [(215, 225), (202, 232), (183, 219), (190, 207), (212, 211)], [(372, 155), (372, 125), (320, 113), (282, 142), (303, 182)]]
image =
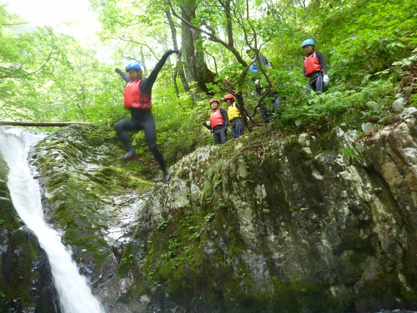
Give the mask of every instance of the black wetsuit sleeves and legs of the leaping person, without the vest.
[[(159, 71), (161, 70), (162, 66), (164, 66), (167, 58), (172, 54), (175, 53), (173, 50), (165, 52), (159, 62), (155, 65), (155, 68), (152, 70), (151, 74), (148, 78), (144, 79), (139, 88), (143, 94), (151, 94), (152, 93), (152, 86), (156, 81), (156, 77), (158, 76)], [(130, 82), (129, 77), (122, 72), (120, 69), (116, 69), (116, 71), (120, 74), (122, 79), (128, 83)], [(116, 123), (114, 126), (117, 135), (119, 136), (120, 140), (123, 142), (125, 147), (129, 152), (134, 153), (134, 149), (132, 147), (130, 137), (127, 134), (129, 131), (135, 130), (144, 130), (145, 131), (145, 139), (146, 143), (148, 144), (149, 149), (155, 156), (156, 161), (158, 161), (162, 172), (166, 173), (166, 167), (164, 158), (159, 152), (156, 147), (156, 129), (155, 129), (155, 121), (154, 117), (152, 116), (152, 112), (149, 109), (138, 109), (138, 108), (129, 108), (131, 118), (124, 119)]]

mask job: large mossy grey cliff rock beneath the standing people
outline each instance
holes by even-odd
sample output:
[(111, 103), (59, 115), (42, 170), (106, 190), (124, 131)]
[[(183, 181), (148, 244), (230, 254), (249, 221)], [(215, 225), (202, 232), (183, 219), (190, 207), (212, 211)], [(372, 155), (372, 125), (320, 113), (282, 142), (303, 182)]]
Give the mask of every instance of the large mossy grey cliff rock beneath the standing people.
[(185, 156), (139, 213), (132, 294), (201, 312), (415, 309), (413, 112), (360, 143), (335, 129), (340, 150), (305, 153), (305, 135), (264, 159), (235, 142)]

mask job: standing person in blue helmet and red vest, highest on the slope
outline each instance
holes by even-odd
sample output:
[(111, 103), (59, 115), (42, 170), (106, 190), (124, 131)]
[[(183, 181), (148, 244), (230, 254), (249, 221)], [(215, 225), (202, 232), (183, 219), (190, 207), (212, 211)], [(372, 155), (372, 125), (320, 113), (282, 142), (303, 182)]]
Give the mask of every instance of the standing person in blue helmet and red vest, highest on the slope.
[(308, 78), (307, 92), (311, 90), (321, 95), (325, 90), (325, 84), (329, 83), (325, 56), (319, 51), (314, 51), (314, 41), (307, 39), (303, 42), (303, 49), (307, 53), (304, 58), (304, 76)]

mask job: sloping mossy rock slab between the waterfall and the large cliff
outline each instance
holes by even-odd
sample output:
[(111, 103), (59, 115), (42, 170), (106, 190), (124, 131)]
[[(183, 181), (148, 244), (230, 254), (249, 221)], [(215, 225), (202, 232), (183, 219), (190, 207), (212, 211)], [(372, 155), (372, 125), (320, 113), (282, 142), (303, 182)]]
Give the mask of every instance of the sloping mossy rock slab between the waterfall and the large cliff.
[(108, 136), (111, 131), (62, 129), (38, 143), (32, 164), (39, 173), (45, 218), (71, 247), (92, 292), (109, 312), (142, 311), (141, 303), (118, 299), (133, 283), (137, 260), (127, 249), (129, 234), (153, 183), (139, 173), (140, 163), (117, 161), (121, 151)]

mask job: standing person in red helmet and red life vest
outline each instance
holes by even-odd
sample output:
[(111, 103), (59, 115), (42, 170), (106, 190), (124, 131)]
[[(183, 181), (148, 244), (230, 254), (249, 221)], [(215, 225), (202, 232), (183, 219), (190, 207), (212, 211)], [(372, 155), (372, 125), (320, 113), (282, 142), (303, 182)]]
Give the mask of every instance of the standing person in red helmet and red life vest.
[(225, 143), (227, 141), (227, 126), (229, 119), (226, 110), (219, 107), (220, 103), (217, 99), (210, 101), (210, 107), (213, 112), (210, 114), (210, 125), (203, 122), (203, 126), (207, 127), (213, 133), (214, 144)]

